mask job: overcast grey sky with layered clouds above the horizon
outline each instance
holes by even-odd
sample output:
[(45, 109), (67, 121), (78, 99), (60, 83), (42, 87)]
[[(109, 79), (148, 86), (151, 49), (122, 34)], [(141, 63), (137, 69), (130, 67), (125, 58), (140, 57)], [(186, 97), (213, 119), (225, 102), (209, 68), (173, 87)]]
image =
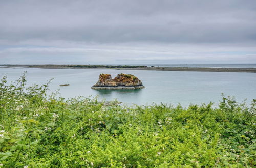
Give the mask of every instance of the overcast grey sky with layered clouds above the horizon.
[(255, 0), (0, 0), (0, 64), (242, 63)]

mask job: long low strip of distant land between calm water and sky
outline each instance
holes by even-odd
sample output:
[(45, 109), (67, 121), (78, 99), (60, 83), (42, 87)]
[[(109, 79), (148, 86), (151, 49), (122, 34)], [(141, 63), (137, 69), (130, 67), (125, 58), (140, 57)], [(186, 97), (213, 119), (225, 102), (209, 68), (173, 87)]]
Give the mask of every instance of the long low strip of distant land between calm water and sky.
[[(102, 65), (0, 65), (2, 68), (42, 68), (42, 69), (116, 69), (116, 70), (151, 70), (151, 71), (198, 71), (198, 72), (250, 72), (256, 73), (256, 68), (204, 68), (204, 67), (140, 67), (136, 66), (110, 66)], [(85, 67), (82, 67), (85, 66)], [(122, 68), (125, 67), (125, 68)], [(132, 68), (126, 68), (132, 67)]]

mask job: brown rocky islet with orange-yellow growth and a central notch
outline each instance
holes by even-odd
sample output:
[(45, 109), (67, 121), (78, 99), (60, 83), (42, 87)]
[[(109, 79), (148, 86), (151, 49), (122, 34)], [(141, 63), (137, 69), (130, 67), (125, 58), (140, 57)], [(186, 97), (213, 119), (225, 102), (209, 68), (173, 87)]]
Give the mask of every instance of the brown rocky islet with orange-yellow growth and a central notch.
[(110, 74), (100, 74), (99, 81), (92, 89), (142, 89), (142, 82), (131, 74), (118, 74), (112, 79)]

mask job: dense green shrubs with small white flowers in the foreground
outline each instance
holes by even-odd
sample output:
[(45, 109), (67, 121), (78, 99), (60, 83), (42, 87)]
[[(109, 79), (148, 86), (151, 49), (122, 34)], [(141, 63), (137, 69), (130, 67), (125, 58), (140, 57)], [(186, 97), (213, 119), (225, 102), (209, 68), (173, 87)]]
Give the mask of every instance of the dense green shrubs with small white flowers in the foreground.
[(254, 167), (255, 108), (127, 107), (0, 83), (0, 167)]

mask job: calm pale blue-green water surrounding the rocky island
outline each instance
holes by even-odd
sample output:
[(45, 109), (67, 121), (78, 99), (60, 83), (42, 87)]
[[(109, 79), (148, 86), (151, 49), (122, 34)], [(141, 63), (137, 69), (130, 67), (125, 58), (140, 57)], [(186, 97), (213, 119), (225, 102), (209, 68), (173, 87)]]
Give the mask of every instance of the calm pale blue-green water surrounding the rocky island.
[[(51, 91), (60, 89), (65, 98), (98, 95), (100, 99), (117, 98), (127, 104), (167, 103), (188, 106), (221, 100), (221, 93), (235, 96), (242, 102), (256, 99), (256, 73), (234, 72), (178, 72), (178, 71), (136, 71), (136, 70), (94, 70), (94, 69), (38, 69), (38, 68), (0, 68), (0, 77), (7, 75), (9, 81), (17, 79), (27, 71), (28, 85), (50, 84)], [(114, 78), (118, 73), (128, 73), (141, 79), (141, 90), (93, 90), (100, 73), (109, 73)], [(70, 86), (59, 87), (69, 83)]]

